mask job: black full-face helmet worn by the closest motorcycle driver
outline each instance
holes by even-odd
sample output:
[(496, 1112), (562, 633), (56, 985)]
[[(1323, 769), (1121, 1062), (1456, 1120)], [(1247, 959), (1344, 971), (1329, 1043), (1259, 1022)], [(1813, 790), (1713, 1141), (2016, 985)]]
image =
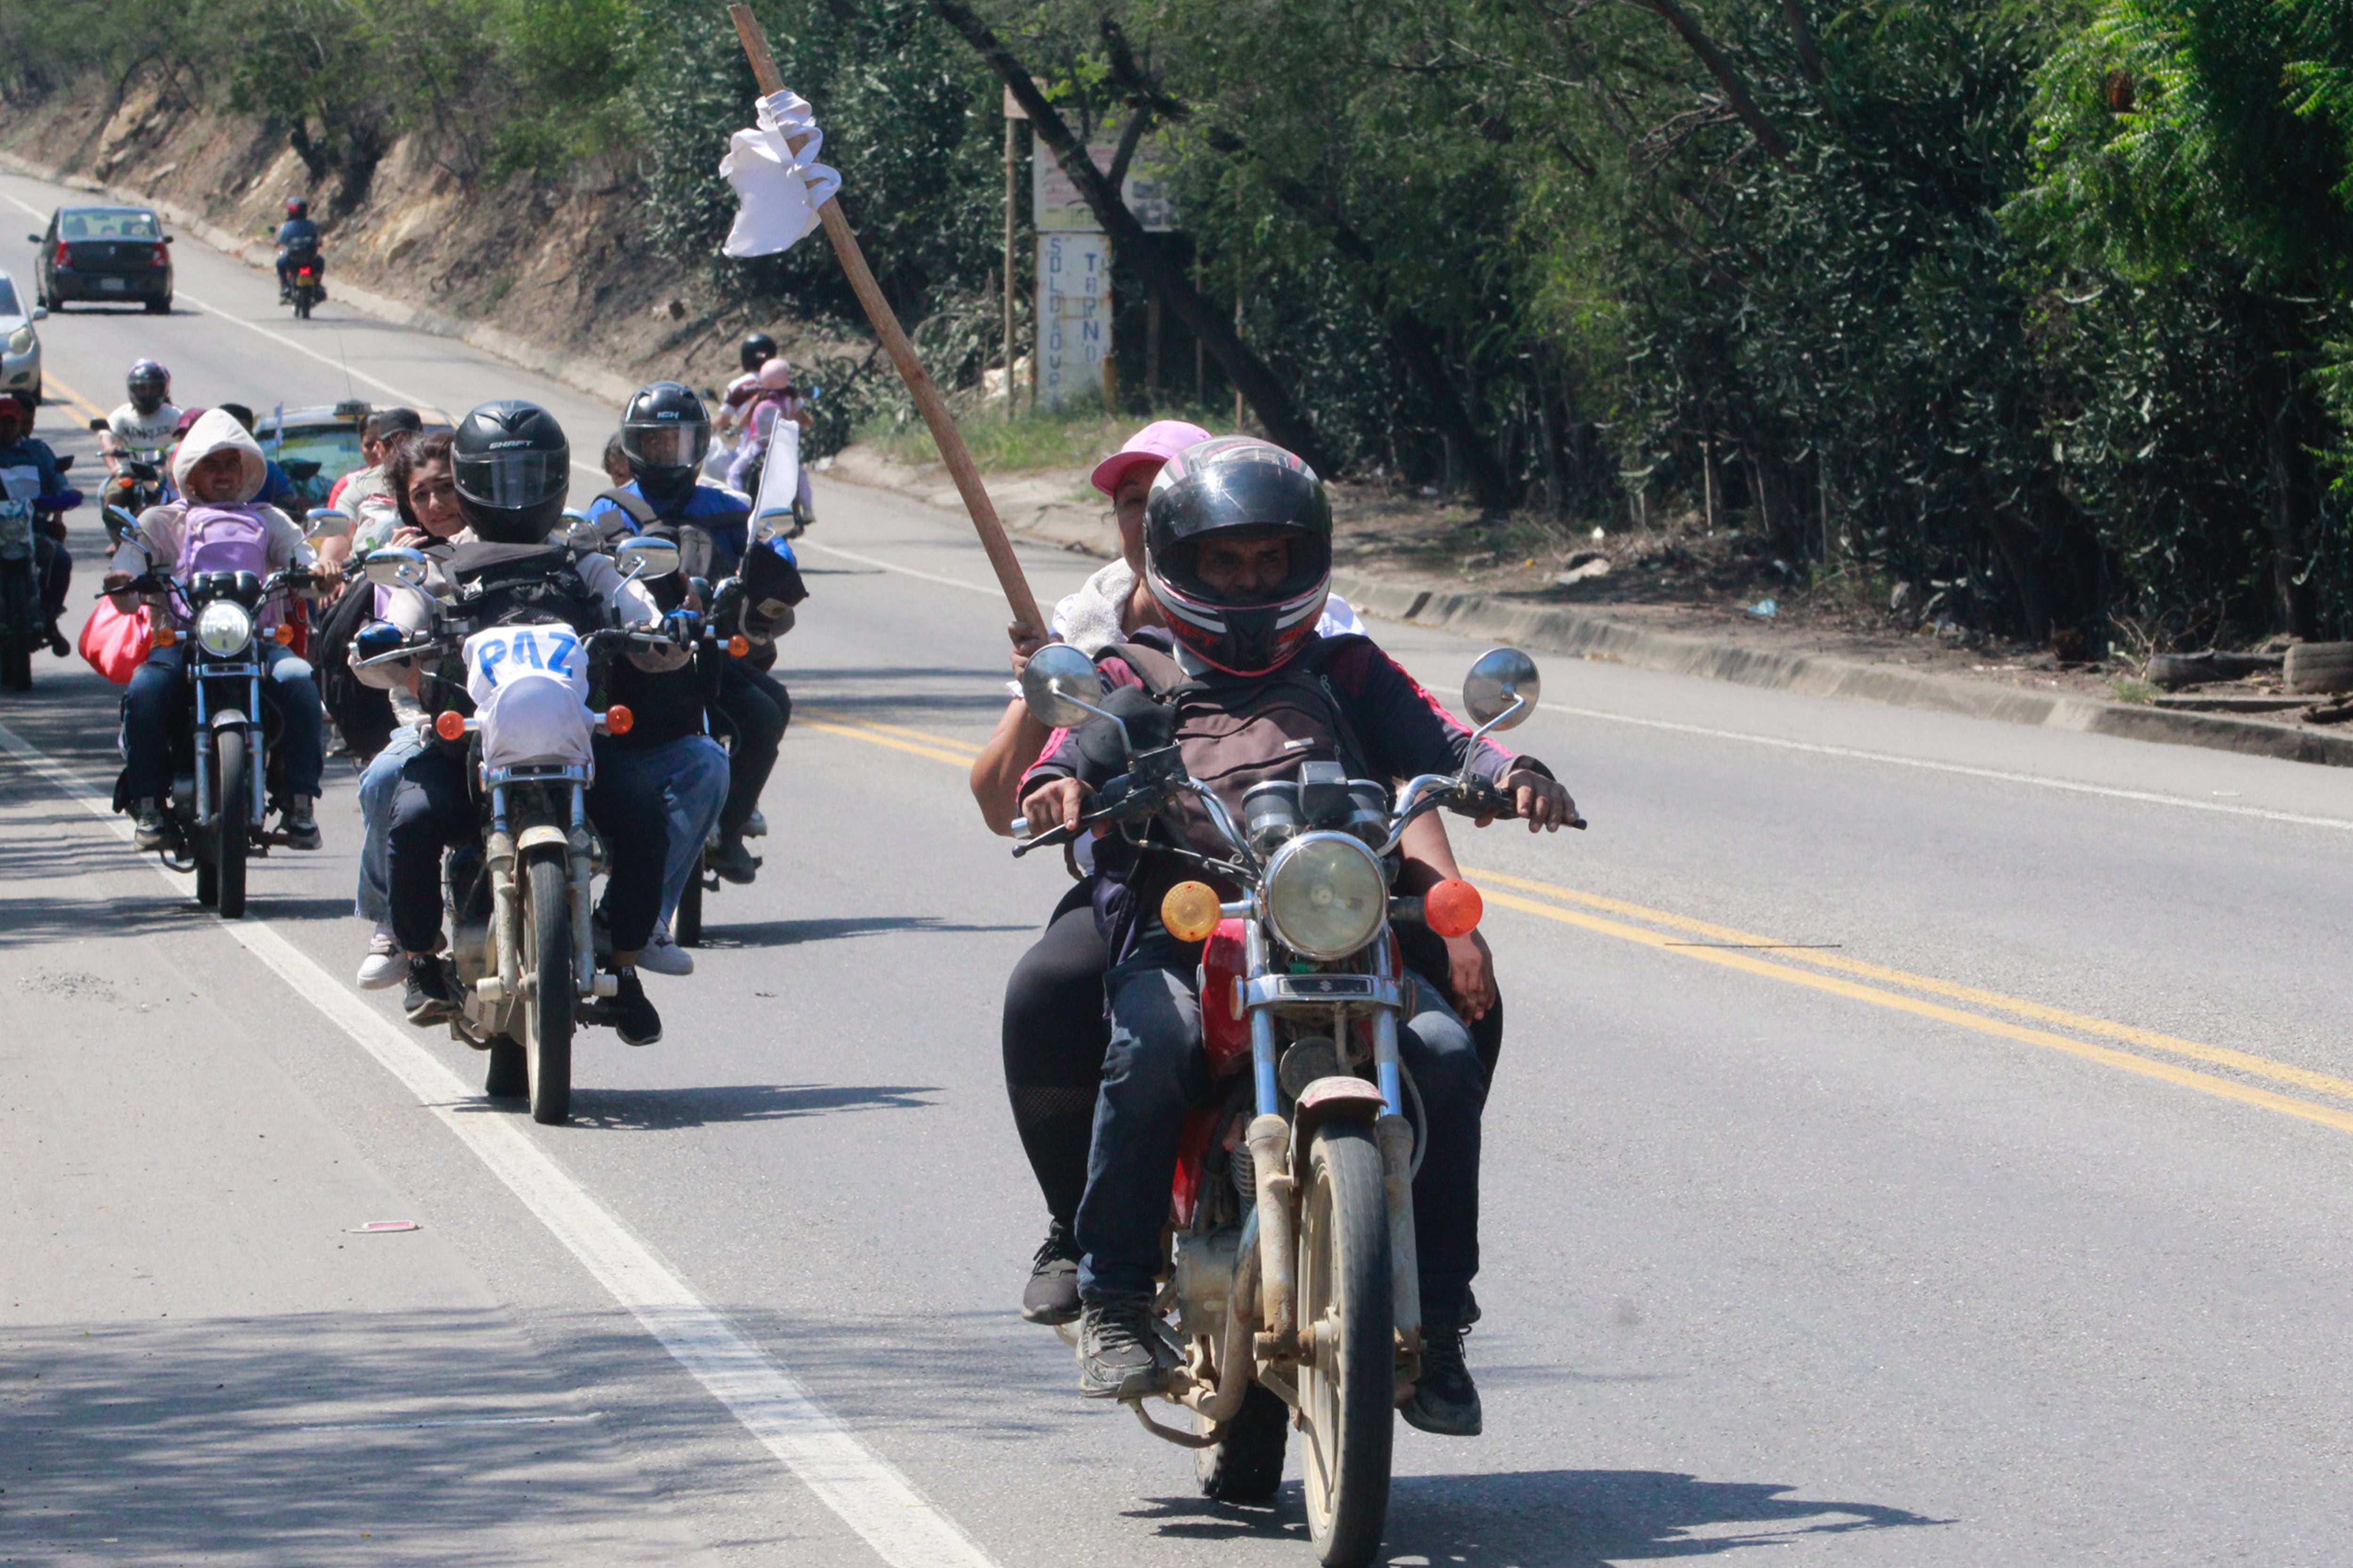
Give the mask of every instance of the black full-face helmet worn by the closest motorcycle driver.
[[(1200, 571), (1212, 541), (1280, 538), (1275, 581), (1219, 588)], [(1332, 597), (1332, 501), (1297, 454), (1249, 435), (1186, 447), (1144, 505), (1144, 578), (1176, 642), (1219, 670), (1266, 675), (1315, 635)]]

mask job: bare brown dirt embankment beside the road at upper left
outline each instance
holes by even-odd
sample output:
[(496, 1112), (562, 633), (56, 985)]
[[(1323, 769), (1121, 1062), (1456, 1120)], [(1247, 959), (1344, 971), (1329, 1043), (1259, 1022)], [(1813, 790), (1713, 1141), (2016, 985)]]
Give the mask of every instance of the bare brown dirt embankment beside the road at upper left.
[[(329, 294), (344, 277), (487, 324), (551, 364), (711, 386), (734, 374), (734, 346), (753, 329), (704, 280), (652, 254), (642, 190), (621, 162), (492, 186), (412, 134), (393, 143), (362, 200), (332, 212), (332, 190), (315, 190), (282, 132), (193, 106), (158, 80), (134, 80), (120, 96), (89, 80), (0, 99), (0, 150), (169, 202), (245, 240), (268, 240), (285, 197), (308, 195), (327, 233)], [(781, 324), (760, 324), (788, 339)]]

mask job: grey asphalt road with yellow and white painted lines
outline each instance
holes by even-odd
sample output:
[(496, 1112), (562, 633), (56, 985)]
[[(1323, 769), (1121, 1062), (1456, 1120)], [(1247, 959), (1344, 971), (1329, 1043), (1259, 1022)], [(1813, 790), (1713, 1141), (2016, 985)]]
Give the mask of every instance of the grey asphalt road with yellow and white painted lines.
[[(52, 397), (158, 355), (184, 404), (614, 423), (179, 268), (45, 322)], [(1014, 1314), (998, 992), (1061, 872), (962, 783), (1005, 611), (958, 520), (819, 517), (767, 870), (565, 1128), (348, 987), (348, 773), (228, 929), (106, 816), (113, 691), (0, 701), (0, 1563), (1306, 1561), (1297, 1483), (1200, 1502)], [(1569, 661), (1520, 738), (1593, 830), (1457, 832), (1511, 1006), (1487, 1436), (1400, 1432), (1391, 1561), (2353, 1556), (2353, 780)]]

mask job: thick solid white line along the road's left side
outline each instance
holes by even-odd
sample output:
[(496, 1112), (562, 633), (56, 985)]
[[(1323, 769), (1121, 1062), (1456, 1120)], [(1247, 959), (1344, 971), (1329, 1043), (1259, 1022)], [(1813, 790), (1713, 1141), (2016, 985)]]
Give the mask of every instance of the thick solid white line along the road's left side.
[[(113, 804), (31, 741), (0, 724), (0, 750), (56, 783), (92, 816), (129, 839)], [(160, 867), (158, 867), (160, 870)], [(162, 872), (186, 891), (193, 877)], [(492, 1168), (600, 1286), (701, 1382), (713, 1399), (859, 1533), (892, 1568), (995, 1568), (965, 1530), (934, 1509), (899, 1469), (861, 1443), (774, 1356), (736, 1333), (685, 1276), (619, 1215), (558, 1166), (513, 1117), (482, 1117), (478, 1095), (409, 1034), (259, 922), (219, 929), (278, 973), (431, 1110), (449, 1135)], [(461, 1110), (464, 1107), (464, 1110)]]

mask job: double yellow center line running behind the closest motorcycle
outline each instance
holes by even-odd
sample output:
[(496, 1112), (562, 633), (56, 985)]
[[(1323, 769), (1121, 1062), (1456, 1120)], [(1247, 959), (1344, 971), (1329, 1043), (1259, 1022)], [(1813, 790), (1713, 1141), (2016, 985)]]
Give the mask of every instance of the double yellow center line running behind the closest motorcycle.
[[(826, 733), (847, 736), (852, 741), (866, 741), (868, 745), (885, 745), (896, 752), (913, 752), (918, 757), (953, 762), (955, 766), (972, 766), (972, 759), (976, 757), (976, 750), (969, 748), (969, 743), (965, 741), (951, 741), (948, 736), (934, 736), (920, 729), (904, 729), (899, 724), (880, 724), (875, 719), (861, 719), (833, 710), (828, 710), (824, 719), (812, 717), (805, 722), (812, 729), (821, 729)], [(958, 750), (951, 752), (944, 748), (958, 748)], [(1788, 961), (1784, 961), (1784, 959), (1762, 959), (1755, 957), (1753, 952), (1741, 952), (1737, 947), (1692, 947), (1687, 943), (1678, 943), (1673, 936), (1668, 936), (1668, 931), (1682, 936), (1701, 936), (1718, 943), (1741, 943), (1748, 947), (1777, 945), (1777, 943), (1774, 938), (1758, 936), (1753, 931), (1741, 931), (1737, 926), (1718, 926), (1713, 922), (1692, 919), (1687, 914), (1671, 914), (1668, 910), (1652, 910), (1638, 903), (1628, 903), (1624, 898), (1609, 898), (1605, 893), (1584, 893), (1579, 889), (1565, 889), (1551, 882), (1537, 882), (1532, 877), (1513, 877), (1511, 872), (1464, 867), (1464, 875), (1485, 884), (1482, 893), (1487, 903), (1501, 905), (1506, 910), (1537, 914), (1541, 919), (1553, 919), (1567, 926), (1581, 926), (1600, 936), (1614, 936), (1626, 943), (1640, 943), (1642, 947), (1657, 947), (1661, 952), (1699, 959), (1704, 964), (1715, 964), (1720, 969), (1734, 969), (1748, 976), (1781, 980), (1786, 985), (1802, 985), (1807, 990), (1828, 992), (1833, 997), (1845, 997), (1849, 1001), (1866, 1001), (1871, 1006), (1885, 1006), (1899, 1013), (1913, 1013), (1915, 1018), (1932, 1018), (1937, 1023), (1958, 1025), (1962, 1030), (1974, 1030), (1979, 1034), (1993, 1034), (1998, 1039), (2042, 1046), (2047, 1051), (2064, 1051), (2066, 1056), (2099, 1063), (2104, 1067), (2137, 1072), (2141, 1077), (2160, 1079), (2165, 1084), (2174, 1084), (2181, 1088), (2195, 1088), (2198, 1093), (2209, 1093), (2221, 1100), (2238, 1100), (2240, 1105), (2257, 1105), (2261, 1110), (2271, 1110), (2282, 1117), (2297, 1117), (2299, 1121), (2318, 1121), (2320, 1126), (2332, 1126), (2341, 1133), (2353, 1133), (2353, 1112), (2339, 1110), (2334, 1105), (2299, 1100), (2294, 1095), (2273, 1093), (2271, 1088), (2257, 1088), (2252, 1084), (2240, 1084), (2235, 1079), (2214, 1077), (2212, 1072), (2179, 1067), (2174, 1063), (2137, 1056), (2132, 1051), (2115, 1051), (2111, 1046), (2099, 1046), (2087, 1039), (2052, 1034), (2049, 1030), (2035, 1030), (2028, 1025), (2009, 1023), (2005, 1018), (1988, 1018), (1986, 1013), (1972, 1013), (1958, 1006), (1944, 1006), (1941, 1001), (1927, 1001), (1922, 997), (1906, 997), (1901, 992), (1880, 990), (1878, 985), (1859, 985), (1857, 980), (1838, 978), (1838, 973), (1812, 973), (1807, 969), (1795, 969), (1793, 961), (1812, 964), (1817, 969), (1840, 971), (1847, 976), (1861, 976), (1868, 980), (1880, 980), (1885, 985), (1901, 985), (1906, 990), (1929, 992), (1934, 997), (1948, 997), (1953, 1001), (1974, 1001), (1979, 1006), (1988, 1006), (2002, 1013), (2017, 1013), (2021, 1018), (2033, 1018), (2038, 1023), (2052, 1023), (2066, 1030), (2078, 1030), (2082, 1034), (2120, 1039), (2127, 1044), (2146, 1046), (2151, 1051), (2165, 1051), (2172, 1056), (2188, 1056), (2193, 1060), (2212, 1063), (2217, 1067), (2233, 1067), (2249, 1077), (2264, 1077), (2278, 1084), (2297, 1084), (2299, 1088), (2315, 1088), (2320, 1093), (2341, 1095), (2348, 1100), (2353, 1100), (2353, 1079), (2332, 1077), (2327, 1072), (2313, 1072), (2308, 1067), (2294, 1067), (2289, 1063), (2278, 1063), (2266, 1056), (2252, 1056), (2247, 1051), (2207, 1046), (2195, 1039), (2181, 1039), (2177, 1034), (2160, 1034), (2158, 1030), (2144, 1030), (2129, 1023), (2115, 1023), (2111, 1018), (2071, 1013), (2066, 1009), (2047, 1006), (2042, 1001), (2028, 1001), (2024, 997), (2005, 997), (2002, 992), (1988, 992), (1974, 985), (1960, 985), (1955, 980), (1939, 980), (1937, 976), (1915, 976), (1901, 969), (1887, 969), (1882, 964), (1868, 964), (1864, 959), (1849, 959), (1835, 952), (1786, 950), (1784, 957)], [(1565, 910), (1558, 903), (1539, 903), (1537, 898), (1520, 898), (1518, 893), (1506, 893), (1501, 889), (1522, 889), (1529, 893), (1541, 893), (1544, 898), (1581, 903), (1588, 910), (1607, 910), (1609, 914), (1640, 919), (1652, 926), (1664, 926), (1666, 931), (1628, 926), (1621, 919), (1605, 919), (1602, 914)]]

